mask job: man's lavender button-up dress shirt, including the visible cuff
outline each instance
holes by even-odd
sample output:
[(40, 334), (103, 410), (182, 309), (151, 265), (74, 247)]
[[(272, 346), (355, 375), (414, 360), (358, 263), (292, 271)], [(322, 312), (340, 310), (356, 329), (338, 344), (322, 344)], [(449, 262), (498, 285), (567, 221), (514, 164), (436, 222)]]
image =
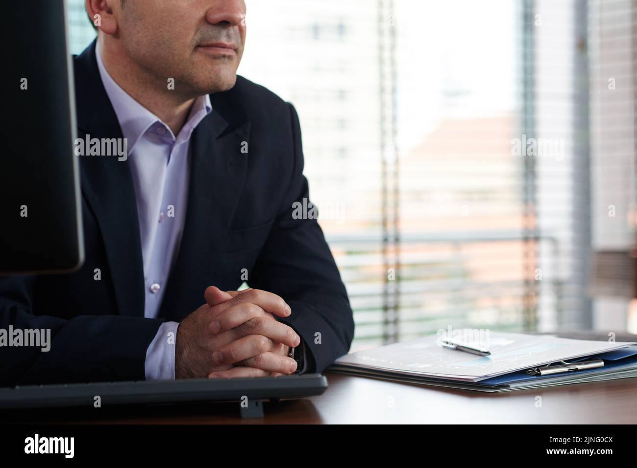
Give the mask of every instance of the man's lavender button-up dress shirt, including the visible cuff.
[[(115, 83), (104, 67), (99, 49), (98, 45), (99, 74), (122, 134), (128, 140), (144, 265), (144, 317), (155, 318), (166, 291), (168, 274), (178, 255), (185, 223), (190, 135), (212, 106), (208, 95), (197, 98), (182, 130), (173, 135), (168, 125)], [(178, 325), (178, 322), (162, 324), (148, 346), (147, 380), (175, 378)]]

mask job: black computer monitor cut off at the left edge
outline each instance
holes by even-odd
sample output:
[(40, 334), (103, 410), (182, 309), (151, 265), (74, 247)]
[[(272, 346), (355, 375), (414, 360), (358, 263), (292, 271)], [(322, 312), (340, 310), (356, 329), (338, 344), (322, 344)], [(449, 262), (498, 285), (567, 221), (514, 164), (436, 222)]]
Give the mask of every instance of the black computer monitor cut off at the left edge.
[(83, 262), (66, 4), (45, 3), (11, 1), (3, 10), (0, 274)]

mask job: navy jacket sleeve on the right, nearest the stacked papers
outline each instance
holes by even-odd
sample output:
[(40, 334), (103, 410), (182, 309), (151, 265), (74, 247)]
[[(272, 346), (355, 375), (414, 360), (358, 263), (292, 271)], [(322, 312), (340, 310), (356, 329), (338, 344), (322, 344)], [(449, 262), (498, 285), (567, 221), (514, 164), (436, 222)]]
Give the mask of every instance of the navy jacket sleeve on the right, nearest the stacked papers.
[[(354, 338), (354, 318), (345, 285), (316, 219), (294, 219), (293, 204), (309, 203), (303, 176), (301, 128), (288, 104), (292, 126), (293, 169), (273, 229), (254, 266), (249, 284), (274, 292), (292, 308), (278, 320), (304, 341), (306, 371), (322, 372), (347, 354)], [(303, 205), (303, 199), (308, 202)]]

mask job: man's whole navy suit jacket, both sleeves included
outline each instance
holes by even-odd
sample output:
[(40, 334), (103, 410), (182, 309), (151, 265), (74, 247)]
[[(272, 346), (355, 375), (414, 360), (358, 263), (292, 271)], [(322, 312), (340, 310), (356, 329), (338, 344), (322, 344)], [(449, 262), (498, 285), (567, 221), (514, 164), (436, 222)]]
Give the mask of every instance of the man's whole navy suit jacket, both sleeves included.
[[(78, 137), (122, 138), (94, 48), (74, 59)], [(333, 256), (315, 219), (292, 217), (292, 204), (308, 198), (294, 107), (241, 76), (210, 99), (190, 141), (187, 215), (159, 317), (143, 317), (129, 161), (79, 156), (85, 263), (64, 275), (0, 278), (0, 328), (51, 329), (52, 337), (48, 352), (0, 347), (0, 385), (143, 380), (160, 324), (203, 305), (208, 286), (236, 289), (243, 268), (251, 287), (292, 308), (280, 320), (303, 339), (307, 371), (347, 353), (354, 320)]]

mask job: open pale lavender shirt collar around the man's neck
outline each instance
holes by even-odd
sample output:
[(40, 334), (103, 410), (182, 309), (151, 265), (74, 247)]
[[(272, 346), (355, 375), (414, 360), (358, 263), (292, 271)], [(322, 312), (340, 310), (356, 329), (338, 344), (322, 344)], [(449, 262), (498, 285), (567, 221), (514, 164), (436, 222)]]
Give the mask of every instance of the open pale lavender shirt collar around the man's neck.
[[(111, 78), (108, 71), (104, 67), (102, 57), (99, 53), (99, 45), (95, 48), (95, 55), (97, 59), (97, 68), (99, 69), (99, 75), (102, 79), (104, 89), (110, 99), (117, 120), (122, 128), (122, 134), (124, 138), (128, 140), (128, 153), (132, 153), (135, 145), (140, 141), (141, 137), (147, 132), (148, 128), (152, 127), (155, 123), (159, 122), (166, 127), (166, 130), (170, 132), (168, 125), (161, 121), (154, 113), (150, 112), (146, 107), (142, 106), (139, 102), (134, 100), (129, 93), (125, 92), (115, 80)], [(210, 95), (206, 94), (197, 97), (192, 104), (190, 113), (186, 123), (180, 130), (177, 140), (185, 141), (190, 139), (190, 134), (199, 125), (199, 122), (203, 118), (210, 114), (212, 111), (212, 104), (210, 102)]]

